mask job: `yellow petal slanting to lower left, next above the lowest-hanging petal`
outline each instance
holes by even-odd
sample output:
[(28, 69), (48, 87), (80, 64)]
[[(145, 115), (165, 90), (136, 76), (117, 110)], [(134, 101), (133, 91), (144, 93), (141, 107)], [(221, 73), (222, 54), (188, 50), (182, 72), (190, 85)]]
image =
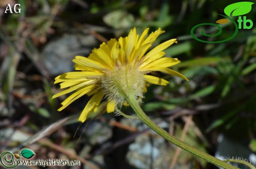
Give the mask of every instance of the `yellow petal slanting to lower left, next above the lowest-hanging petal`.
[(58, 109), (58, 111), (63, 110), (64, 108), (66, 108), (68, 105), (70, 105), (71, 103), (73, 103), (75, 100), (77, 100), (78, 98), (80, 98), (81, 96), (84, 96), (85, 94), (87, 94), (88, 92), (90, 92), (91, 90), (93, 90), (94, 88), (96, 88), (97, 85), (89, 85), (86, 86), (80, 90), (78, 90), (77, 92), (73, 93), (72, 95), (68, 96), (61, 104), (63, 105), (62, 107), (60, 107)]

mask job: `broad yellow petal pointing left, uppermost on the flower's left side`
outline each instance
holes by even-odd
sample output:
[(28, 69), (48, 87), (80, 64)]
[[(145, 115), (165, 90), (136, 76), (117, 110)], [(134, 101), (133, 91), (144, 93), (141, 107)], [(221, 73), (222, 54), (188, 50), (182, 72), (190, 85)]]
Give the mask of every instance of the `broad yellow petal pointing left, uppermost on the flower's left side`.
[(93, 67), (100, 70), (106, 69), (106, 67), (103, 66), (100, 62), (94, 61), (92, 59), (89, 59), (83, 56), (76, 56), (75, 59), (73, 59), (72, 61), (75, 62), (76, 64), (79, 64), (85, 67)]

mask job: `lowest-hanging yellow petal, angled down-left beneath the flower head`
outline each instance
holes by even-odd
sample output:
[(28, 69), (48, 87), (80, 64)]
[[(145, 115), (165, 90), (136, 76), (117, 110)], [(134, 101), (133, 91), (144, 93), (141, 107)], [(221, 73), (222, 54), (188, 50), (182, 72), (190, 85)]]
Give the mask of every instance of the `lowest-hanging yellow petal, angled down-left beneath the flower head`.
[(102, 94), (101, 92), (94, 94), (82, 111), (80, 117), (78, 118), (78, 121), (81, 121), (82, 123), (85, 122), (91, 111), (99, 105), (103, 96), (104, 94)]

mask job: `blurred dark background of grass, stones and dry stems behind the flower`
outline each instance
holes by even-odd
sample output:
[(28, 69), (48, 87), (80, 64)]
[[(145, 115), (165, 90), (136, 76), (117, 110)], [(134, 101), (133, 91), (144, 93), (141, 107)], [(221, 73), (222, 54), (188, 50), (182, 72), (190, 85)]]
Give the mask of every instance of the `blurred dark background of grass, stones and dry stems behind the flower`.
[[(7, 4), (17, 3), (21, 5), (20, 14), (4, 13)], [(67, 96), (51, 99), (60, 91), (58, 85), (53, 85), (54, 77), (73, 71), (71, 60), (76, 55), (88, 56), (103, 41), (126, 36), (131, 28), (141, 33), (145, 28), (155, 31), (160, 27), (166, 33), (155, 45), (178, 39), (178, 44), (165, 50), (166, 56), (181, 60), (173, 69), (189, 82), (155, 73), (170, 84), (150, 85), (142, 108), (161, 127), (202, 151), (222, 157), (243, 156), (255, 164), (256, 27), (239, 29), (235, 38), (223, 43), (203, 43), (190, 35), (197, 24), (223, 19), (217, 14), (224, 15), (230, 3), (0, 1), (1, 152), (27, 147), (36, 152), (36, 158), (81, 161), (81, 166), (64, 168), (216, 168), (180, 152), (139, 120), (106, 114), (105, 103), (91, 119), (79, 124), (77, 118), (87, 96), (62, 112), (56, 110)], [(254, 22), (255, 15), (253, 4), (245, 16)], [(215, 34), (217, 30), (211, 26), (197, 28), (195, 34), (203, 40), (217, 41), (235, 31), (231, 23), (221, 27), (223, 32), (216, 37), (200, 35), (202, 28)], [(123, 111), (133, 114), (130, 108), (124, 107)], [(223, 140), (228, 146), (223, 147)]]

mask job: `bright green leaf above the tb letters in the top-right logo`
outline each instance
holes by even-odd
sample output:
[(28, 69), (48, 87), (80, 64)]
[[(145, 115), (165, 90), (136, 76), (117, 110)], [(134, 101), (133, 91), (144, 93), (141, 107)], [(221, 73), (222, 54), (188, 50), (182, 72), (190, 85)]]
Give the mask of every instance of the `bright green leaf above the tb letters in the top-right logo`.
[(229, 17), (232, 11), (234, 11), (232, 14), (233, 16), (245, 15), (251, 11), (252, 4), (254, 3), (238, 2), (238, 3), (230, 4), (224, 9), (224, 13)]

